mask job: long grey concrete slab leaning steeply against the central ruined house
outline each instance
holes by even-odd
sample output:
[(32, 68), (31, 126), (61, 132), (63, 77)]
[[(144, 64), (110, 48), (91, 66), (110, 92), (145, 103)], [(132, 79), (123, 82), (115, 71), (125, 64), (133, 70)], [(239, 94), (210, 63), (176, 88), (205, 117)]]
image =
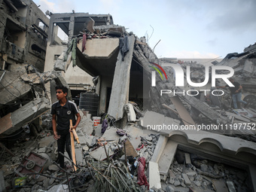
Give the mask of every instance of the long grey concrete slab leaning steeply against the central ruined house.
[(117, 62), (114, 69), (114, 80), (112, 84), (108, 114), (115, 120), (123, 118), (124, 105), (128, 103), (130, 85), (130, 67), (133, 59), (133, 47), (135, 38), (128, 37), (129, 51), (122, 60), (122, 54), (118, 53)]

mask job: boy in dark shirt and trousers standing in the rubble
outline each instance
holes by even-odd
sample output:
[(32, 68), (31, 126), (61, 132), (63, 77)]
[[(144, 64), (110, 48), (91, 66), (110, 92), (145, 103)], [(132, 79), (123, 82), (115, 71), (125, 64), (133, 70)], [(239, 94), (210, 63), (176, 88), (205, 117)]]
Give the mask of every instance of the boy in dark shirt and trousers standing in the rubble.
[[(71, 154), (71, 142), (70, 142), (70, 120), (73, 123), (73, 129), (76, 129), (78, 123), (81, 120), (80, 114), (78, 113), (77, 105), (75, 102), (69, 101), (66, 98), (68, 95), (67, 87), (56, 87), (56, 98), (58, 102), (54, 102), (51, 107), (51, 114), (53, 115), (53, 137), (57, 140), (58, 152), (64, 154), (65, 146), (66, 151), (69, 154), (69, 158), (72, 159)], [(75, 116), (77, 120), (75, 120)], [(59, 166), (63, 169), (64, 166), (64, 157), (58, 153)]]

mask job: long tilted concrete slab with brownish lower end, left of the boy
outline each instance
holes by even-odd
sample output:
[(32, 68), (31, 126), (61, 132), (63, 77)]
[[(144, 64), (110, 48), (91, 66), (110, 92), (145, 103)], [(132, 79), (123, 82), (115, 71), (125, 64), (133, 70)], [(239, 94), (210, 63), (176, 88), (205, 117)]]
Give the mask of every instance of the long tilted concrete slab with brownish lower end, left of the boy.
[(19, 130), (21, 126), (31, 122), (50, 109), (50, 102), (46, 98), (39, 98), (23, 105), (13, 113), (0, 119), (0, 134), (9, 135)]

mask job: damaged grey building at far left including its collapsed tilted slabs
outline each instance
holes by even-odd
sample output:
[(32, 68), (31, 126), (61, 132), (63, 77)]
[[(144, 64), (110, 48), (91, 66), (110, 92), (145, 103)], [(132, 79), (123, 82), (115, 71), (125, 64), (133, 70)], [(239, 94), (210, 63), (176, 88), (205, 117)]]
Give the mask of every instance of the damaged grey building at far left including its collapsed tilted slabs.
[(44, 82), (51, 77), (43, 74), (49, 19), (30, 0), (0, 6), (0, 133), (8, 135), (50, 108)]

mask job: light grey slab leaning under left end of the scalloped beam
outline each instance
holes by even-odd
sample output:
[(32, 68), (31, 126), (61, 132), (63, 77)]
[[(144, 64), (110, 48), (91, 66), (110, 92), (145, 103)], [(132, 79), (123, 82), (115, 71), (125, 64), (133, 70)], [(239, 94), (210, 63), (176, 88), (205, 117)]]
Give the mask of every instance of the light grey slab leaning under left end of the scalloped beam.
[(177, 142), (172, 142), (172, 140), (169, 140), (166, 143), (166, 146), (163, 149), (163, 153), (161, 154), (160, 159), (158, 160), (160, 174), (168, 174), (169, 167), (172, 164), (173, 158), (177, 150), (177, 146)]

